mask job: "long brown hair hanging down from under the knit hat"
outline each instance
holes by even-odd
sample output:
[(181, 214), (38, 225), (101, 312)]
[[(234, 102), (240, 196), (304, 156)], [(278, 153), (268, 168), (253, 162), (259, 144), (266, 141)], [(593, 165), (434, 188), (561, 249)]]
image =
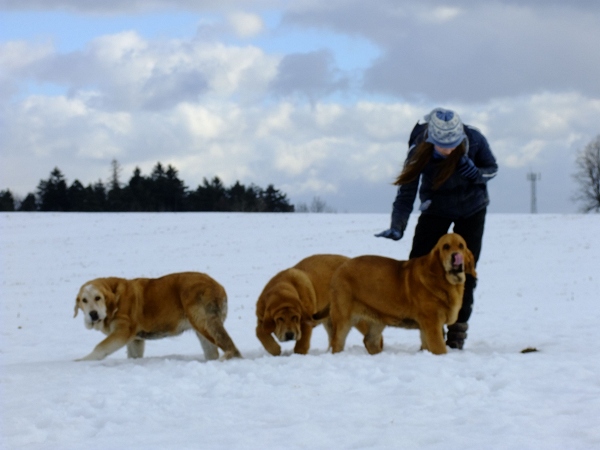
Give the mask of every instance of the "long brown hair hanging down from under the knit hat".
[[(406, 161), (404, 164), (404, 168), (394, 184), (396, 186), (400, 186), (403, 184), (408, 184), (415, 181), (425, 169), (425, 166), (431, 161), (433, 158), (433, 144), (430, 142), (421, 142), (415, 148), (415, 153), (412, 157)], [(465, 154), (465, 142), (461, 142), (461, 144), (454, 149), (447, 158), (440, 160), (437, 164), (437, 174), (435, 176), (435, 181), (433, 182), (433, 190), (439, 189), (439, 187), (450, 178), (450, 175), (454, 173), (456, 170), (456, 165), (458, 164), (458, 160), (462, 155)]]

